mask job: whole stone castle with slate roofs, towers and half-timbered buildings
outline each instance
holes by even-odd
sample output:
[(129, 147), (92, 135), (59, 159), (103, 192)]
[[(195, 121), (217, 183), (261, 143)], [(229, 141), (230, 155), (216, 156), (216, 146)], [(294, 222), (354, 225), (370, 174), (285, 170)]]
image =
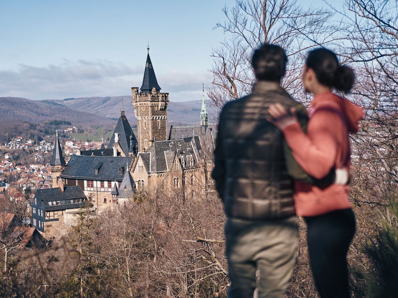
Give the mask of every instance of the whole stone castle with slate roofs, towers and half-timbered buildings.
[(131, 88), (137, 137), (122, 109), (107, 148), (102, 143), (100, 149), (81, 150), (66, 164), (57, 133), (50, 163), (53, 188), (37, 192), (31, 205), (33, 225), (46, 237), (70, 225), (70, 214), (84, 200), (101, 212), (147, 186), (191, 198), (205, 194), (217, 132), (209, 127), (204, 88), (201, 125), (171, 126), (169, 132), (169, 93), (160, 90), (148, 48), (142, 85)]

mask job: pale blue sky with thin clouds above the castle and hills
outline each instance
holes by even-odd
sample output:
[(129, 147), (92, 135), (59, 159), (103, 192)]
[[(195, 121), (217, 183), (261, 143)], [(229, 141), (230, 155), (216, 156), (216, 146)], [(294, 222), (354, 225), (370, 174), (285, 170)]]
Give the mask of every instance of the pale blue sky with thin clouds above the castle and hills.
[(201, 99), (202, 83), (212, 81), (211, 47), (224, 38), (213, 27), (225, 4), (234, 1), (0, 0), (0, 97), (129, 95), (141, 86), (149, 42), (170, 100)]

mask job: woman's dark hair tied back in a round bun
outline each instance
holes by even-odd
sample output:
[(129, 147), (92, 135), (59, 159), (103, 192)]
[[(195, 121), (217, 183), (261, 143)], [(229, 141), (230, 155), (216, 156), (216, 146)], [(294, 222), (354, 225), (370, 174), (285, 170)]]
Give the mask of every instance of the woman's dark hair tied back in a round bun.
[(339, 64), (334, 52), (318, 48), (308, 53), (307, 68), (314, 70), (316, 78), (322, 85), (348, 93), (354, 85), (355, 74), (348, 66)]

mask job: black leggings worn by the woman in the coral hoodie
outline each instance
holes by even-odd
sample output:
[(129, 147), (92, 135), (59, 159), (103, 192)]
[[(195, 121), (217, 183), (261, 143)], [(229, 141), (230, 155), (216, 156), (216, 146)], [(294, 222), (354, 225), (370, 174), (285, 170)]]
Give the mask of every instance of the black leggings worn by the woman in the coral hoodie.
[(355, 232), (351, 209), (304, 217), (308, 225), (308, 251), (315, 286), (321, 298), (351, 297), (347, 251)]

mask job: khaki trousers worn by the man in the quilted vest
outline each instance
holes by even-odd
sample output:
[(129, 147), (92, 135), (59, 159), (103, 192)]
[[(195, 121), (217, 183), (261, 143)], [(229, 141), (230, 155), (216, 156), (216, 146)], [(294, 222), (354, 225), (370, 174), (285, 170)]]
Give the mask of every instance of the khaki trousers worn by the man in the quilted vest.
[[(228, 298), (284, 298), (297, 259), (297, 218), (246, 221), (228, 218)], [(256, 284), (256, 271), (259, 280)]]

